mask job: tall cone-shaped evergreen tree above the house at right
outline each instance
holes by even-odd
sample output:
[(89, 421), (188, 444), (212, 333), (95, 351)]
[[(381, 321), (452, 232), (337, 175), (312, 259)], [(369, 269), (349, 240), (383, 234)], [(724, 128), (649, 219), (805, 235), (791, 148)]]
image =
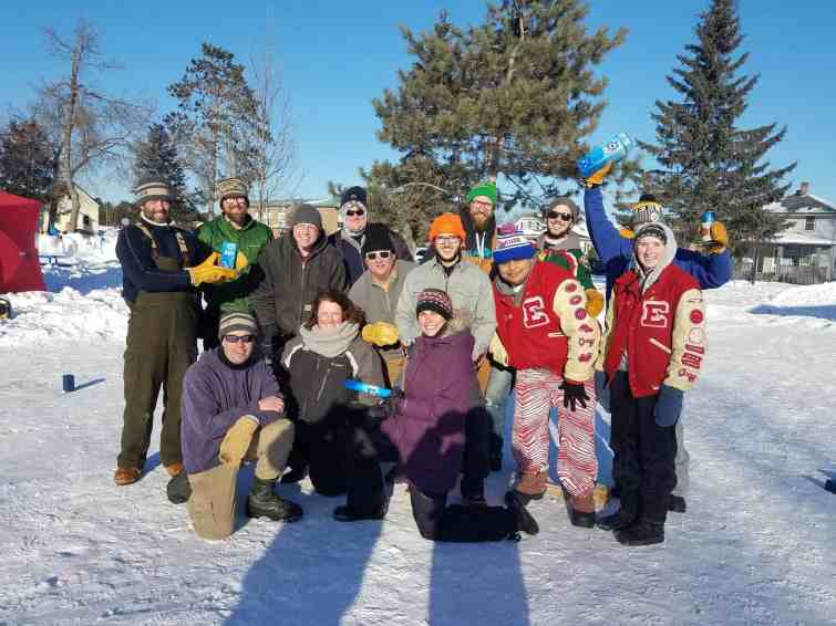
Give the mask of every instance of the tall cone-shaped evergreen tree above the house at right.
[(668, 76), (681, 100), (656, 102), (658, 145), (639, 145), (663, 168), (649, 179), (649, 190), (670, 207), (675, 226), (695, 236), (700, 216), (712, 210), (740, 255), (784, 228), (763, 207), (784, 197), (789, 184), (782, 179), (795, 164), (771, 169), (764, 159), (786, 127), (737, 126), (758, 76), (740, 74), (749, 53), (737, 53), (743, 35), (735, 1), (713, 0), (695, 31), (696, 43), (677, 56), (682, 66)]

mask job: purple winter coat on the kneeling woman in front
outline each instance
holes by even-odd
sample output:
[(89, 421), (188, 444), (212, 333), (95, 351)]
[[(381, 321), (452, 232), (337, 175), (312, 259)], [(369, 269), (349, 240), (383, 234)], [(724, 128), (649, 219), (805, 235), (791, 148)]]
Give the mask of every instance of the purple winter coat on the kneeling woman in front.
[(404, 474), (422, 491), (453, 489), (462, 469), (465, 419), (479, 406), (473, 344), (469, 330), (417, 337), (401, 410), (381, 426), (400, 451)]

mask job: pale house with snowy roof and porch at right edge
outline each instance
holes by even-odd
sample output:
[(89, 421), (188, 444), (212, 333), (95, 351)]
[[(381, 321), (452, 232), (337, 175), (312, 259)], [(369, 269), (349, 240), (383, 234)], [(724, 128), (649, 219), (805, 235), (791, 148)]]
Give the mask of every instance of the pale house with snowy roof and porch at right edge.
[(764, 210), (785, 219), (789, 227), (757, 246), (754, 259), (735, 269), (749, 278), (755, 262), (756, 278), (796, 284), (814, 284), (836, 278), (836, 204), (809, 192), (809, 182)]

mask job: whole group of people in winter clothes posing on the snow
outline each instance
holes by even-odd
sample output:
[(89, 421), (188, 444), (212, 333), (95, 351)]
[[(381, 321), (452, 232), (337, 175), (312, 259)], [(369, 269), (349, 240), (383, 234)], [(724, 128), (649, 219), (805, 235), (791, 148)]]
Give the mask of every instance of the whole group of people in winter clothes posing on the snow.
[[(683, 492), (672, 493), (688, 483), (680, 416), (705, 356), (701, 290), (729, 280), (731, 262), (721, 223), (704, 250), (678, 248), (652, 197), (634, 206), (632, 232), (619, 232), (603, 209), (606, 174), (584, 181), (607, 273), (603, 328), (570, 198), (549, 205), (547, 231), (531, 241), (497, 227), (496, 186), (482, 182), (458, 213), (432, 222), (416, 264), (395, 232), (370, 221), (361, 187), (342, 195), (337, 233), (301, 205), (273, 240), (249, 216), (239, 179), (219, 182), (221, 216), (196, 233), (169, 219), (164, 184), (141, 185), (140, 219), (116, 249), (131, 317), (114, 481), (142, 476), (162, 386), (168, 497), (188, 502), (200, 536), (231, 534), (238, 470), (254, 460), (254, 518), (299, 520), (275, 486), (309, 477), (317, 493), (345, 495), (336, 520), (380, 520), (403, 480), (425, 539), (518, 539), (538, 532), (528, 508), (548, 489), (556, 409), (570, 523), (628, 545), (663, 541), (668, 511), (684, 511)], [(221, 267), (229, 242), (237, 257)], [(372, 387), (352, 390), (351, 379)], [(503, 467), (509, 398), (517, 478), (492, 505), (485, 479)], [(597, 401), (612, 415), (620, 501), (606, 517), (594, 499)]]

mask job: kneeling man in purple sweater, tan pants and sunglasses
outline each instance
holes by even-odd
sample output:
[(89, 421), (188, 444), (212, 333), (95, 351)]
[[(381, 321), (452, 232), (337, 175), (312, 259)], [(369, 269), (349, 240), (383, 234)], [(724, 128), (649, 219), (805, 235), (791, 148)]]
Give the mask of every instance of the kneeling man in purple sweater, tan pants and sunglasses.
[(188, 512), (195, 532), (205, 539), (233, 533), (236, 478), (246, 460), (257, 460), (247, 514), (286, 522), (302, 517), (298, 504), (272, 491), (293, 445), (293, 425), (281, 417), (285, 403), (270, 367), (254, 355), (256, 319), (224, 315), (218, 337), (220, 346), (203, 353), (183, 380), (183, 463), (188, 476), (183, 488), (190, 487)]

